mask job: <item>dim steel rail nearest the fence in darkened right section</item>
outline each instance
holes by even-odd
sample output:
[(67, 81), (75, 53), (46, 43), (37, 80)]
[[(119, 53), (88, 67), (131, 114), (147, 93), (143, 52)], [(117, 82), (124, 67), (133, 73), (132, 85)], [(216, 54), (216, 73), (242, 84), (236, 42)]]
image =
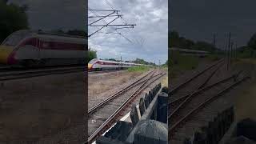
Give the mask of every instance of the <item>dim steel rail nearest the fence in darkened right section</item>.
[(199, 109), (201, 109), (202, 107), (206, 106), (206, 104), (208, 104), (209, 102), (212, 102), (214, 100), (214, 98), (218, 98), (220, 96), (222, 96), (222, 94), (225, 94), (228, 90), (232, 89), (234, 86), (237, 86), (238, 84), (240, 84), (241, 82), (246, 81), (246, 79), (250, 78), (249, 76), (246, 76), (244, 78), (242, 78), (241, 80), (239, 80), (238, 82), (234, 82), (233, 84), (231, 84), (230, 86), (227, 86), (225, 89), (221, 90), (218, 92), (218, 94), (206, 99), (206, 101), (200, 103), (197, 107), (195, 107), (193, 110), (190, 110), (190, 112), (188, 114), (186, 114), (183, 118), (181, 118), (178, 122), (174, 123), (173, 126), (170, 127), (169, 134), (172, 135), (174, 133), (174, 130), (182, 123), (184, 122), (191, 114), (194, 114), (195, 112), (198, 112)]

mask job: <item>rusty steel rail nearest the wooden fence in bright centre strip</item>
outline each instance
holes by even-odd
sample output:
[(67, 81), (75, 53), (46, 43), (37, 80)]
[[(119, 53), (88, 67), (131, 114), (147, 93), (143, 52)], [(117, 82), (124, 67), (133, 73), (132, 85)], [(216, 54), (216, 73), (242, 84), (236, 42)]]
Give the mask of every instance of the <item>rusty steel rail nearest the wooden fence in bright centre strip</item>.
[(123, 102), (122, 105), (118, 108), (118, 110), (116, 110), (114, 112), (114, 114), (112, 114), (110, 116), (110, 118), (108, 118), (95, 132), (94, 134), (91, 134), (90, 137), (87, 140), (87, 143), (91, 143), (93, 142), (96, 138), (98, 138), (98, 136), (100, 136), (101, 134), (103, 134), (104, 131), (106, 131), (108, 128), (110, 128), (110, 126), (112, 126), (114, 124), (114, 122), (118, 121), (118, 118), (122, 116), (121, 112), (122, 110), (126, 109), (127, 106), (130, 105), (130, 103), (134, 100), (134, 98), (136, 96), (138, 96), (138, 94), (142, 93), (142, 90), (146, 89), (147, 86), (150, 86), (151, 83), (155, 82), (156, 80), (158, 80), (159, 78), (161, 78), (162, 76), (164, 76), (166, 73), (161, 74), (158, 78), (155, 78), (153, 81), (151, 81), (150, 83), (148, 83), (146, 85), (146, 82), (149, 82), (150, 78), (147, 79), (147, 81), (145, 83), (142, 84), (142, 86), (138, 87), (138, 89), (130, 95), (130, 97), (126, 100), (126, 102)]

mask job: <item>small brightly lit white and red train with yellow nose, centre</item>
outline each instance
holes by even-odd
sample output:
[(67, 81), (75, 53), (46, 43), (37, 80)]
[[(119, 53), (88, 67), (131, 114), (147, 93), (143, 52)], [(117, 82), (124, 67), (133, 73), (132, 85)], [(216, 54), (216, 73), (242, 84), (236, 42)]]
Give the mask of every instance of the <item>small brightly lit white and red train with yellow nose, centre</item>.
[(124, 69), (131, 66), (151, 66), (151, 65), (142, 65), (138, 63), (131, 62), (114, 62), (114, 61), (106, 61), (98, 58), (94, 58), (90, 60), (88, 63), (88, 70), (117, 70)]

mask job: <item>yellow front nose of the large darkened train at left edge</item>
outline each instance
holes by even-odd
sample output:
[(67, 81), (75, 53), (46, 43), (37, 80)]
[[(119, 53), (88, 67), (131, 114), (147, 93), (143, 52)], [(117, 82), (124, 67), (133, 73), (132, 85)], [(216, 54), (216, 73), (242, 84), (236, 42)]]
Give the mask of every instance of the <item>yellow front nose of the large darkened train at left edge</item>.
[(14, 48), (12, 46), (2, 46), (0, 45), (0, 63), (8, 64), (8, 59), (10, 54), (13, 52)]

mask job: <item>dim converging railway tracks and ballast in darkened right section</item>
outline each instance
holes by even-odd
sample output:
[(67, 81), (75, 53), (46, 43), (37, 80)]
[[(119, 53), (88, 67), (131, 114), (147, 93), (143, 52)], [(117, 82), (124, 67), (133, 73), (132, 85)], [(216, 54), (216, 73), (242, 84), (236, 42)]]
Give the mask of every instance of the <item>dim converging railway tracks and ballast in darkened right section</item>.
[[(225, 76), (222, 79), (214, 78), (214, 74), (223, 66), (222, 64), (223, 61), (216, 62), (188, 81), (170, 90), (172, 95), (168, 102), (169, 143), (183, 143), (186, 137), (192, 137), (194, 130), (202, 126), (201, 123), (209, 122), (211, 116), (218, 113), (218, 108), (208, 110), (206, 114), (201, 114), (201, 118), (194, 116), (200, 113), (202, 108), (214, 102), (216, 98), (220, 98), (228, 90), (250, 78), (248, 76), (240, 78), (239, 75), (242, 74), (242, 71)], [(195, 82), (196, 79), (197, 82)], [(210, 79), (215, 81), (210, 83)], [(189, 83), (191, 84), (189, 85)], [(191, 86), (193, 83), (194, 86)], [(187, 87), (190, 87), (190, 90), (186, 90)], [(182, 93), (183, 88), (185, 93)], [(190, 118), (194, 118), (193, 122), (188, 122)]]

